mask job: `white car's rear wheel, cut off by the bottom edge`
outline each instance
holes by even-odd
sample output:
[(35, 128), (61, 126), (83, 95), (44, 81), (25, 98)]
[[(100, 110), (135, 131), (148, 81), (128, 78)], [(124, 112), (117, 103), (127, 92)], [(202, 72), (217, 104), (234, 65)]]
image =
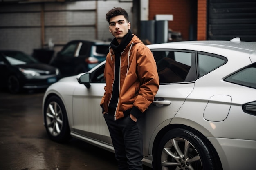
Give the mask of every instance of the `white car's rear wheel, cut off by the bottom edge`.
[(175, 128), (164, 135), (156, 159), (157, 170), (222, 170), (207, 139), (185, 128)]

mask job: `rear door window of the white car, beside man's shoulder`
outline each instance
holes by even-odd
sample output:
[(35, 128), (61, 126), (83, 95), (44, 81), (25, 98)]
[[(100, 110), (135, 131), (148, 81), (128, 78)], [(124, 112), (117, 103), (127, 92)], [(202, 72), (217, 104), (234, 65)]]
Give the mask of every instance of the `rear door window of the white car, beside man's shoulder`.
[(191, 68), (192, 53), (184, 51), (152, 51), (160, 83), (185, 82)]

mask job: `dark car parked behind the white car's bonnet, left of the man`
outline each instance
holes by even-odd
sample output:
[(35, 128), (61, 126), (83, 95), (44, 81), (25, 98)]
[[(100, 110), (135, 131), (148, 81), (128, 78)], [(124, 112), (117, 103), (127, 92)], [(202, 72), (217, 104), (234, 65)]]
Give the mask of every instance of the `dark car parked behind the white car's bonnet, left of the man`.
[(100, 40), (73, 40), (68, 42), (50, 62), (60, 69), (63, 77), (89, 71), (103, 62), (110, 42)]

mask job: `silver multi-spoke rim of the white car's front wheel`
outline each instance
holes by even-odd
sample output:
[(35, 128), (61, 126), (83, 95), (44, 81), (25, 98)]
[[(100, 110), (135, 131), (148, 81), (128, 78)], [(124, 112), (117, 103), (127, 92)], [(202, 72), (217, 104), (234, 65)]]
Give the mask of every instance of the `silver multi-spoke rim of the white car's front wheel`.
[(57, 102), (50, 102), (46, 110), (46, 126), (52, 136), (61, 133), (63, 113)]

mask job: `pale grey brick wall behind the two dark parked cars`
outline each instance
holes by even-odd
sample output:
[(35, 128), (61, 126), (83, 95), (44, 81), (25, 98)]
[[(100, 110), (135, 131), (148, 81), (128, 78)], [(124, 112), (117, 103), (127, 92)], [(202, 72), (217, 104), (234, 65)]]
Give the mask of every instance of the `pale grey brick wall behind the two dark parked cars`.
[[(45, 3), (44, 6), (42, 4), (1, 4), (0, 49), (16, 49), (28, 54), (32, 54), (33, 49), (40, 49), (41, 9), (44, 9), (44, 45), (48, 44), (49, 39), (52, 39), (54, 44), (60, 45), (75, 39), (95, 39), (96, 37), (100, 40), (112, 39), (105, 16), (113, 7), (126, 9), (132, 23), (132, 2), (92, 0)], [(55, 52), (60, 49), (61, 46), (54, 47)]]

